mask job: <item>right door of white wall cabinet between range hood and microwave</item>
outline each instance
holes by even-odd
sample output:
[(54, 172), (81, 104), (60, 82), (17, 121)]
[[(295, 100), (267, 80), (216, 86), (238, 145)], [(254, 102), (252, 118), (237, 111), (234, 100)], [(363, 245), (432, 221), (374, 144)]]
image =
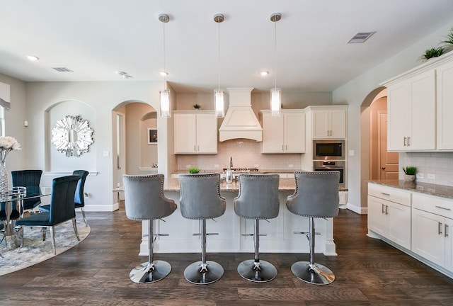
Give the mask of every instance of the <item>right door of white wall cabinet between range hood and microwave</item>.
[(287, 113), (284, 117), (285, 152), (305, 152), (305, 114)]

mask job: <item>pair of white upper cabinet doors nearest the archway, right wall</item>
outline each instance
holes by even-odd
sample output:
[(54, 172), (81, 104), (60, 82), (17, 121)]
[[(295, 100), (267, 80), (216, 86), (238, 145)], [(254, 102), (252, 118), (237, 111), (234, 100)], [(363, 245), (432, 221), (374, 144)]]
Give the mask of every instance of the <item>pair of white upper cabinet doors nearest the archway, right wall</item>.
[(415, 74), (387, 89), (388, 149), (435, 149), (435, 69)]

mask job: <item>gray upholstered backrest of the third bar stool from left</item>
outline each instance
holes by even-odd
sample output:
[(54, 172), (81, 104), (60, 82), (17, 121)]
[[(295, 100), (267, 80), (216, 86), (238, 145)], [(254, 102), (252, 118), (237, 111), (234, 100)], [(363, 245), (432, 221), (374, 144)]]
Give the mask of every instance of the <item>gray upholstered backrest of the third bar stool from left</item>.
[(278, 216), (278, 174), (239, 174), (239, 195), (234, 212), (248, 219), (272, 219)]

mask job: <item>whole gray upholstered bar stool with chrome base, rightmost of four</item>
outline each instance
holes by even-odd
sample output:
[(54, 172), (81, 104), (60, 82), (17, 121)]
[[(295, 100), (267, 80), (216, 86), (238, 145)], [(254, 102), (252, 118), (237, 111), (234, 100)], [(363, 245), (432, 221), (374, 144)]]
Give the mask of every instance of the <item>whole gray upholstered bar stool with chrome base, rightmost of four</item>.
[[(338, 215), (338, 171), (295, 171), (296, 191), (287, 197), (288, 210), (296, 215), (309, 217), (310, 261), (298, 261), (291, 266), (294, 276), (307, 283), (326, 285), (335, 280), (333, 272), (314, 262), (314, 218)], [(305, 234), (305, 233), (304, 233)]]

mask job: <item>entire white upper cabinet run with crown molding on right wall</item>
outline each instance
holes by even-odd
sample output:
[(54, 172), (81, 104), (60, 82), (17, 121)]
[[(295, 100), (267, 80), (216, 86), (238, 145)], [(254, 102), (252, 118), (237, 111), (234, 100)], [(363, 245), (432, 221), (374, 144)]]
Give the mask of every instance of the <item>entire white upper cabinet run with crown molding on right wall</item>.
[(389, 151), (453, 150), (453, 52), (384, 82)]

